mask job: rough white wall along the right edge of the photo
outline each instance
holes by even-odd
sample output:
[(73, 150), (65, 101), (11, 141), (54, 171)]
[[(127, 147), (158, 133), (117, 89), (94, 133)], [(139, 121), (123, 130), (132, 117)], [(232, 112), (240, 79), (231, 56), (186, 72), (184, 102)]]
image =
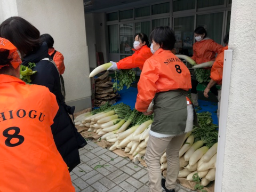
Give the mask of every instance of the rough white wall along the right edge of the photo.
[(222, 192), (256, 191), (255, 9), (255, 0), (232, 2), (229, 49), (234, 52)]

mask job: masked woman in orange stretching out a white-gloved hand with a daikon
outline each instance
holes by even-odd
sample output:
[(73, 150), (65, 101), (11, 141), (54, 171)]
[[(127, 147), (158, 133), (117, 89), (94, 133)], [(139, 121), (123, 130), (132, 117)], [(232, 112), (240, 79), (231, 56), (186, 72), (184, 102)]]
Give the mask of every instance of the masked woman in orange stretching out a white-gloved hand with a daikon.
[(110, 61), (112, 65), (107, 70), (132, 69), (136, 67), (139, 67), (142, 70), (145, 61), (152, 56), (148, 45), (149, 41), (146, 34), (136, 34), (133, 43), (133, 51), (135, 51), (133, 55), (118, 62)]

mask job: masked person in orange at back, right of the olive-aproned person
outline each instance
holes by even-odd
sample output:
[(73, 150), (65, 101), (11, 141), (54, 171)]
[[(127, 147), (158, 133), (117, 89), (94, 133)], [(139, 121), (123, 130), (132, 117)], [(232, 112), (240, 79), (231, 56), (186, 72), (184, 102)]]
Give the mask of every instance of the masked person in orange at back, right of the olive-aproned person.
[[(207, 32), (204, 27), (197, 27), (194, 31), (194, 36), (196, 39), (196, 43), (193, 45), (193, 59), (197, 64), (205, 63), (208, 61), (214, 61), (216, 53), (220, 53), (223, 46), (214, 42), (212, 39), (207, 37)], [(205, 68), (205, 70), (209, 70), (209, 68)], [(197, 107), (198, 104), (198, 94), (196, 87), (198, 85), (198, 81), (196, 79), (196, 72), (191, 79), (192, 89), (191, 89), (191, 98), (193, 100), (194, 105)], [(218, 95), (218, 90), (216, 86), (211, 87), (211, 92)]]

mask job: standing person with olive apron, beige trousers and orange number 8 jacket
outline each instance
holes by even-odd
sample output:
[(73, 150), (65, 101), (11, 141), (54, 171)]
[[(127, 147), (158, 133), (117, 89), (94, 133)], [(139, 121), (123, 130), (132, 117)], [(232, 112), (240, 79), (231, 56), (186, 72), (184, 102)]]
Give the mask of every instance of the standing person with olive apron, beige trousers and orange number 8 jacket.
[[(196, 123), (195, 111), (187, 94), (191, 89), (191, 78), (186, 65), (171, 52), (175, 36), (170, 27), (155, 28), (150, 39), (153, 56), (143, 66), (135, 108), (145, 115), (154, 112), (145, 155), (149, 191), (160, 192), (163, 188), (167, 192), (175, 192), (179, 173), (179, 149), (184, 142), (185, 133), (191, 131), (194, 122)], [(153, 99), (153, 110), (147, 112)], [(166, 180), (162, 179), (159, 165), (165, 149)]]

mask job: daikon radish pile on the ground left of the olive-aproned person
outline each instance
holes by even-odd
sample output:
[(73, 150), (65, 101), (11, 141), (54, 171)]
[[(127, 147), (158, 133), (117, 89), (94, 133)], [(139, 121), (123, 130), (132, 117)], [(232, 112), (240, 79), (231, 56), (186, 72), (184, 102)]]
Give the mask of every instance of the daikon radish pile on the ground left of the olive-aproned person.
[(135, 109), (132, 111), (123, 103), (115, 106), (107, 103), (97, 112), (94, 115), (87, 113), (78, 116), (76, 125), (90, 127), (87, 131), (100, 135), (99, 140), (114, 143), (109, 150), (123, 149), (133, 156), (134, 162), (138, 161), (137, 157), (145, 155), (153, 116), (145, 116)]

